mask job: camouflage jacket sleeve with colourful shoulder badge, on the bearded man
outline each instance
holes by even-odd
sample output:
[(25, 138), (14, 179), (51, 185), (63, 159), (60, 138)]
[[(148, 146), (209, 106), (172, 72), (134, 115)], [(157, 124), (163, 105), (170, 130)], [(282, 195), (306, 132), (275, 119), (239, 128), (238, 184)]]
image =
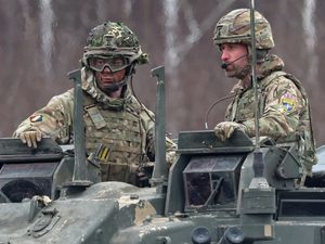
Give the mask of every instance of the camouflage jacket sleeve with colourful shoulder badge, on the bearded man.
[[(300, 114), (307, 104), (296, 85), (285, 78), (278, 77), (263, 91), (263, 110), (260, 117), (260, 134), (275, 140), (287, 139), (295, 136), (299, 125)], [(255, 137), (255, 119), (243, 121), (246, 132)], [(294, 139), (294, 138), (292, 138)]]

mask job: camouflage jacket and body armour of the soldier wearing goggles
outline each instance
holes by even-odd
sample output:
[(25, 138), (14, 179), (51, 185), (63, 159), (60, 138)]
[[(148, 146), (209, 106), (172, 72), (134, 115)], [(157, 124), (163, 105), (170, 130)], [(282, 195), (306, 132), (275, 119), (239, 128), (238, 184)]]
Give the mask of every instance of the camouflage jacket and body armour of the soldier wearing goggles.
[[(96, 88), (92, 73), (82, 69), (83, 119), (88, 155), (104, 146), (100, 162), (102, 181), (135, 185), (141, 167), (154, 160), (154, 114), (140, 104), (127, 88), (123, 99), (110, 100)], [(74, 89), (53, 97), (47, 106), (24, 120), (14, 137), (39, 130), (58, 144), (73, 142)], [(173, 163), (174, 144), (167, 139), (167, 162)]]

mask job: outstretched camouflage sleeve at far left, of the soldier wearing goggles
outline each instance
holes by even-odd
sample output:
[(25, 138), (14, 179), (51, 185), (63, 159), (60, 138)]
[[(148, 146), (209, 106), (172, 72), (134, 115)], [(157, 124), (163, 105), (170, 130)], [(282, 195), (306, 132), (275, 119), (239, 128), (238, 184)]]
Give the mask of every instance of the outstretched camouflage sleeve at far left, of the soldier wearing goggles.
[(73, 90), (53, 97), (49, 103), (31, 114), (14, 131), (18, 137), (25, 131), (40, 131), (60, 144), (68, 143), (73, 123)]

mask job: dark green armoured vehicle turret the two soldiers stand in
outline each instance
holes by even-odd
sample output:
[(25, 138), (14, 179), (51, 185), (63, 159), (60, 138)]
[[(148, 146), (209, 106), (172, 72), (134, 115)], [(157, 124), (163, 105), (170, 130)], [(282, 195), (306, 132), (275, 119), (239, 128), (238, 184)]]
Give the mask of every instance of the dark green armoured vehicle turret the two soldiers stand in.
[[(162, 74), (154, 72), (164, 94)], [(136, 188), (99, 182), (77, 130), (75, 146), (0, 139), (1, 244), (325, 243), (324, 147), (300, 187), (295, 143), (262, 139), (257, 147), (240, 131), (224, 142), (209, 130), (183, 131), (179, 159), (167, 169), (158, 140), (152, 187)]]

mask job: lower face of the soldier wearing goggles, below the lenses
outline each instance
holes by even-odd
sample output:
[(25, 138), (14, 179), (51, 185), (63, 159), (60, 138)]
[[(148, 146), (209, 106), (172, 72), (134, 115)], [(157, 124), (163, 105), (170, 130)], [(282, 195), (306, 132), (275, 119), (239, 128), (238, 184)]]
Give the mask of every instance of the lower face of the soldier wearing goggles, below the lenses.
[(118, 72), (112, 72), (108, 67), (105, 67), (103, 72), (95, 72), (95, 78), (98, 86), (103, 90), (107, 91), (112, 85), (116, 85), (121, 81), (126, 76), (126, 69)]

